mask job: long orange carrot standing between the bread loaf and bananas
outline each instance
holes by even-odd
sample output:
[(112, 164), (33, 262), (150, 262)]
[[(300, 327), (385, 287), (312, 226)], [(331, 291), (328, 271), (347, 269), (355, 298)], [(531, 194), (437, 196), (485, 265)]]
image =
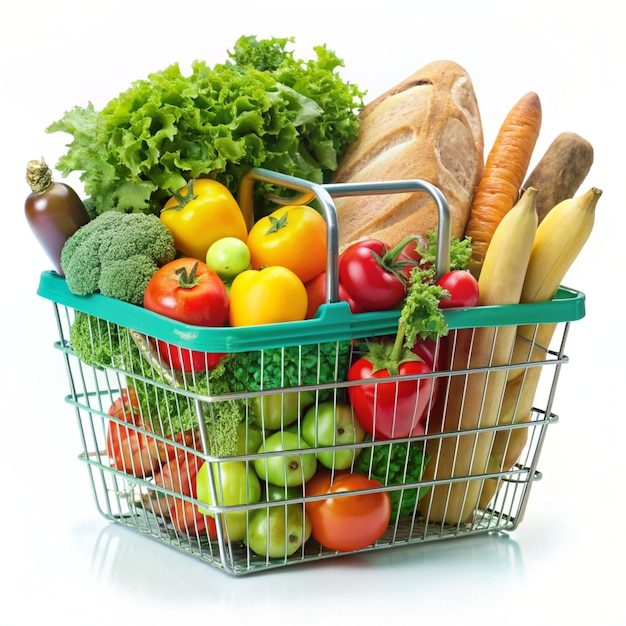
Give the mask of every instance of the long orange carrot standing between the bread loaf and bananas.
[(487, 156), (465, 228), (472, 239), (469, 269), (476, 278), (496, 227), (519, 200), (540, 127), (541, 102), (531, 91), (509, 111)]

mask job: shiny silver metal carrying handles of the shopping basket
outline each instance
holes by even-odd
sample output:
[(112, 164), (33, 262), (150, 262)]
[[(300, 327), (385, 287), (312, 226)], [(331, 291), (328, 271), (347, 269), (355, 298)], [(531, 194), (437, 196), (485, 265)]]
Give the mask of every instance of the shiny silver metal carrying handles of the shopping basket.
[(361, 196), (372, 194), (406, 193), (424, 191), (437, 205), (437, 254), (435, 268), (437, 277), (441, 277), (450, 269), (450, 208), (438, 187), (424, 180), (397, 180), (362, 183), (312, 183), (302, 178), (279, 174), (263, 168), (252, 168), (240, 183), (238, 201), (250, 228), (254, 221), (254, 183), (256, 181), (279, 185), (286, 189), (299, 192), (300, 195), (285, 198), (272, 196), (277, 204), (308, 204), (317, 199), (326, 220), (328, 229), (326, 249), (326, 302), (339, 300), (338, 258), (339, 258), (339, 225), (337, 209), (333, 197)]

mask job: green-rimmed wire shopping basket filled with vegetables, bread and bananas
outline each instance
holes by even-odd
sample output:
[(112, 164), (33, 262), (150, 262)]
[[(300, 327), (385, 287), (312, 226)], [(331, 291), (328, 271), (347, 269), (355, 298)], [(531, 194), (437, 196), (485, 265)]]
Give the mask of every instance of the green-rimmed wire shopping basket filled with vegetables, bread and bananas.
[(520, 305), (570, 299), (593, 150), (563, 133), (531, 170), (530, 92), (485, 159), (458, 64), (364, 105), (334, 53), (288, 43), (242, 37), (49, 128), (88, 196), (41, 287), (68, 310), (85, 458), (116, 521), (232, 571), (510, 527), (575, 317)]

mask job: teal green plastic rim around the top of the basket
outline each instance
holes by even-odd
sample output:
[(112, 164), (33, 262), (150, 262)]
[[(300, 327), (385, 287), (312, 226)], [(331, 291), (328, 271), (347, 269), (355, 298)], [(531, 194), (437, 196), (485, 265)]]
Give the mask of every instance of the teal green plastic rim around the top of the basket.
[[(399, 311), (395, 310), (353, 314), (346, 302), (335, 302), (322, 305), (315, 318), (301, 322), (206, 328), (183, 324), (100, 294), (75, 295), (65, 278), (54, 271), (42, 272), (37, 294), (106, 322), (204, 352), (244, 352), (393, 335), (399, 318)], [(573, 322), (585, 316), (585, 295), (561, 287), (549, 302), (448, 309), (444, 314), (450, 330)]]

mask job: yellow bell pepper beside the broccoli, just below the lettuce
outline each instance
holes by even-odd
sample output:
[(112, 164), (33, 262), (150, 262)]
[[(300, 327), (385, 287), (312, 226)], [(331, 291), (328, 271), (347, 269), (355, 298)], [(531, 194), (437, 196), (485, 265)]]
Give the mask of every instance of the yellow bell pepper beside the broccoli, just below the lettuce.
[(176, 249), (202, 262), (218, 239), (235, 237), (245, 242), (248, 238), (239, 204), (227, 187), (210, 178), (192, 179), (173, 193), (160, 218), (172, 233)]

